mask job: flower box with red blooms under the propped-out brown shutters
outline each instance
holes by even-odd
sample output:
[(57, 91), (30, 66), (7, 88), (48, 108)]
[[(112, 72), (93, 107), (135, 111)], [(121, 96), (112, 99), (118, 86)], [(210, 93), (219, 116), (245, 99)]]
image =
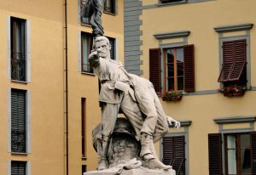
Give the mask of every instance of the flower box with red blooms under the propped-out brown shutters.
[(245, 93), (247, 87), (244, 85), (230, 85), (227, 87), (223, 87), (218, 89), (219, 93), (224, 94), (224, 96), (241, 96)]

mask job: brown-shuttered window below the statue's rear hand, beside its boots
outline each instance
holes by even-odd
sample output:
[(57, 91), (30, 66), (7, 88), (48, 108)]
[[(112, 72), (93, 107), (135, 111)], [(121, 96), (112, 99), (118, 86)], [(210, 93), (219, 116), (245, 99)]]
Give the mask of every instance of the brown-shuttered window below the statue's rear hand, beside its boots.
[(172, 165), (179, 175), (185, 175), (185, 137), (167, 136), (163, 138), (163, 163)]

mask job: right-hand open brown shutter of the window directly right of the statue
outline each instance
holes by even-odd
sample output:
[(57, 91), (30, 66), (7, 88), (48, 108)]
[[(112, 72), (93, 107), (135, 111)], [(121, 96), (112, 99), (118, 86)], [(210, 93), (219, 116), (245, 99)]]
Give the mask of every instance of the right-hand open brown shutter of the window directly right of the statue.
[(187, 45), (184, 49), (184, 91), (195, 91), (195, 54), (194, 45)]

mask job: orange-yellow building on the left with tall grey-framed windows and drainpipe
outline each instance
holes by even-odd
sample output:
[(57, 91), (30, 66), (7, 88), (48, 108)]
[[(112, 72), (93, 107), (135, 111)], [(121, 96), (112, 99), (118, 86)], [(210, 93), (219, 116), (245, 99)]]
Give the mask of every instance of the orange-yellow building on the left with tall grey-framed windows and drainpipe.
[[(0, 174), (96, 169), (91, 131), (101, 113), (84, 2), (0, 3)], [(112, 57), (123, 61), (123, 2), (103, 1), (103, 9)]]

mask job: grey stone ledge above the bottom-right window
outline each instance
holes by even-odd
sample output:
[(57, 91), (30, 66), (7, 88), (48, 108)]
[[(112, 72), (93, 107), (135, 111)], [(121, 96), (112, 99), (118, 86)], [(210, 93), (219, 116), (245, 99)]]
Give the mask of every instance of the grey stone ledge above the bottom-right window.
[(233, 124), (233, 123), (245, 123), (245, 122), (255, 122), (256, 116), (231, 116), (231, 117), (221, 117), (213, 119), (217, 124)]

